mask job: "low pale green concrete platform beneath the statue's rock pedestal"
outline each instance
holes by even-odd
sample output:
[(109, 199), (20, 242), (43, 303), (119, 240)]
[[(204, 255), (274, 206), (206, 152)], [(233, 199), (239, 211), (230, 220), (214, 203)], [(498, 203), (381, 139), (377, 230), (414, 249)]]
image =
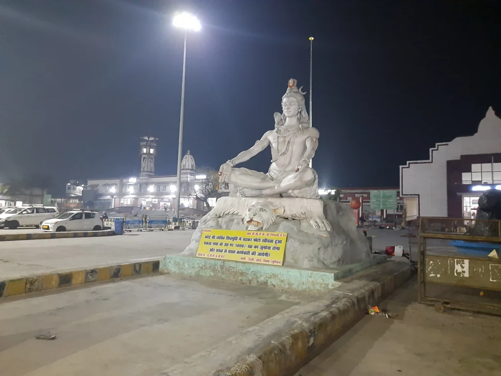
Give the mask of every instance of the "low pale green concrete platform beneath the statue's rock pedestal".
[(373, 255), (357, 264), (334, 269), (299, 269), (285, 266), (220, 261), (184, 255), (167, 255), (160, 262), (160, 272), (185, 276), (208, 277), (296, 291), (325, 291), (339, 286), (338, 281), (371, 265), (386, 261)]

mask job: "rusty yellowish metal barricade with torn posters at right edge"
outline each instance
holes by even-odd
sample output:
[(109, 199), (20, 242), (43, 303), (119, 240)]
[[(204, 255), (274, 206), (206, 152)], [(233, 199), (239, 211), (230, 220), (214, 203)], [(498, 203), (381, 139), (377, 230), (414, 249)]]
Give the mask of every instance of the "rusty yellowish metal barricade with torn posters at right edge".
[[(421, 218), (419, 302), (501, 315), (501, 221)], [(497, 258), (490, 256), (491, 252)]]

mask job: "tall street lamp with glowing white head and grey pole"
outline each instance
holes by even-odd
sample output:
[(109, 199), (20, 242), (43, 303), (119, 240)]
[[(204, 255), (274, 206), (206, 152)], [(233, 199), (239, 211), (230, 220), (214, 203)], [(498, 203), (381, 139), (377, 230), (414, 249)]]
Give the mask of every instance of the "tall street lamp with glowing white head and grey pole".
[(183, 158), (183, 117), (184, 117), (184, 77), (186, 74), (186, 33), (188, 31), (200, 31), (200, 21), (189, 13), (183, 12), (174, 16), (172, 25), (184, 29), (184, 52), (183, 52), (183, 80), (181, 84), (181, 115), (179, 116), (179, 145), (177, 148), (177, 176), (176, 176), (176, 204), (174, 216), (179, 218), (179, 204), (181, 200), (181, 160)]

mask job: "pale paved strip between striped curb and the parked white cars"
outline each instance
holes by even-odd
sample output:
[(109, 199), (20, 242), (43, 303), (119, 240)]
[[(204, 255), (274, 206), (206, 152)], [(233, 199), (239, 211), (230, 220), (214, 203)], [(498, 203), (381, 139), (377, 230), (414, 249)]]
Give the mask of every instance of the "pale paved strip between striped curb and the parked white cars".
[(0, 242), (0, 280), (62, 269), (83, 269), (179, 253), (193, 230), (132, 232), (101, 238)]

